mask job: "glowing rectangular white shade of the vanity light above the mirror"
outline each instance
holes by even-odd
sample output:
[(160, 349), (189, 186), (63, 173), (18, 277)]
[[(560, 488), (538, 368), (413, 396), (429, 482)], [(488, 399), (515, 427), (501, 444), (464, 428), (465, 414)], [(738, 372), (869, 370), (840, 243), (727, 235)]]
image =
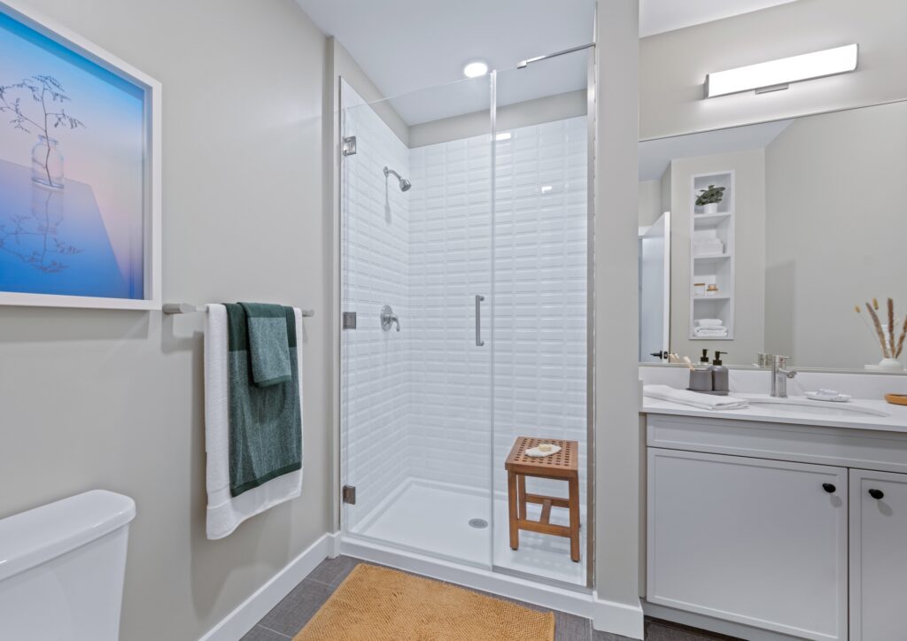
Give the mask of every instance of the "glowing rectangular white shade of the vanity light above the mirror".
[(859, 46), (845, 44), (834, 49), (709, 73), (706, 76), (706, 97), (766, 88), (786, 89), (790, 83), (852, 72), (856, 69), (858, 57)]

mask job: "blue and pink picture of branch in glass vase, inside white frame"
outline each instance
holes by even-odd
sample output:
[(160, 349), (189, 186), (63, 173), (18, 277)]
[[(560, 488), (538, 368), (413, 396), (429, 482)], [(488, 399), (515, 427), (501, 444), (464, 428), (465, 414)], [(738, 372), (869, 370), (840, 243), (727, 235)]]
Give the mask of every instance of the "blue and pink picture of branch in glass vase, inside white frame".
[(0, 13), (0, 291), (142, 299), (145, 91)]

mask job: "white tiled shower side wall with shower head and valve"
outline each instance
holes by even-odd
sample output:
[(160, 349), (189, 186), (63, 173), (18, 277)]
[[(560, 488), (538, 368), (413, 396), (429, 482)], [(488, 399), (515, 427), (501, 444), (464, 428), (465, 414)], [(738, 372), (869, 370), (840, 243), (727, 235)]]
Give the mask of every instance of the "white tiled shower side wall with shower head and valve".
[[(341, 172), (343, 309), (355, 311), (357, 326), (342, 334), (344, 361), (341, 420), (348, 477), (356, 485), (356, 506), (348, 525), (359, 520), (410, 474), (405, 450), (410, 381), (405, 336), (412, 315), (407, 305), (409, 196), (396, 180), (385, 180), (385, 165), (406, 176), (409, 150), (349, 85), (341, 86), (345, 136), (356, 136), (357, 151)], [(381, 328), (381, 307), (390, 305), (403, 331)]]

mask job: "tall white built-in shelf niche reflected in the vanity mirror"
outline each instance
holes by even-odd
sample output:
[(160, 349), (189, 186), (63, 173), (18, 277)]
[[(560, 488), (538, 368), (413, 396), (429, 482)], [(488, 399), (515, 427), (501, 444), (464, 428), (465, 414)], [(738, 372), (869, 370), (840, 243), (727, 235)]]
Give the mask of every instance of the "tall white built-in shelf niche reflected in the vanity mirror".
[[(709, 185), (725, 188), (717, 212), (707, 213), (705, 207), (696, 204), (699, 191)], [(690, 340), (734, 340), (734, 199), (733, 170), (693, 176), (690, 191), (690, 210), (693, 212), (690, 217)], [(717, 294), (697, 296), (697, 283), (716, 285)], [(696, 335), (699, 318), (720, 318), (727, 327), (727, 336)]]

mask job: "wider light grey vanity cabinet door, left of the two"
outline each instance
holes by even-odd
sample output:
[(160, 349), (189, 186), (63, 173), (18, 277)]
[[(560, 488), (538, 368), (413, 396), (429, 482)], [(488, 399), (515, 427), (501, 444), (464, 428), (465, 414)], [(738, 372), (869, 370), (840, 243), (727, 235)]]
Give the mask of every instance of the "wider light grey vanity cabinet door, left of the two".
[(844, 468), (649, 448), (648, 479), (649, 601), (846, 638)]

